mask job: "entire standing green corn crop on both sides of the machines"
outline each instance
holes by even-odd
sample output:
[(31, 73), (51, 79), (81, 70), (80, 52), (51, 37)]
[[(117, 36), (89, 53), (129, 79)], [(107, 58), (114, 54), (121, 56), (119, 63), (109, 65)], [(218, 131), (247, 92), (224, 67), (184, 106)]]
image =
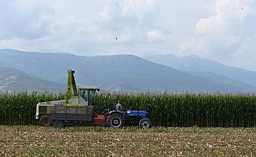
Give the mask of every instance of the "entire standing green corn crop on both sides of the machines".
[[(35, 104), (60, 100), (60, 93), (0, 94), (1, 125), (38, 125)], [(94, 110), (113, 109), (117, 100), (123, 108), (148, 111), (154, 126), (254, 127), (256, 96), (233, 93), (98, 93)]]

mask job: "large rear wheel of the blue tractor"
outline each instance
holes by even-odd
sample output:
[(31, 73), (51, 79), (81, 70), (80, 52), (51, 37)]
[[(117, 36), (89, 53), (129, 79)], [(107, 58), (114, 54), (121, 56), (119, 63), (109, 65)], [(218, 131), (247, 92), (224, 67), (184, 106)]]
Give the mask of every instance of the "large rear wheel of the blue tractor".
[(124, 125), (123, 116), (117, 113), (108, 115), (107, 123), (110, 127), (122, 128)]

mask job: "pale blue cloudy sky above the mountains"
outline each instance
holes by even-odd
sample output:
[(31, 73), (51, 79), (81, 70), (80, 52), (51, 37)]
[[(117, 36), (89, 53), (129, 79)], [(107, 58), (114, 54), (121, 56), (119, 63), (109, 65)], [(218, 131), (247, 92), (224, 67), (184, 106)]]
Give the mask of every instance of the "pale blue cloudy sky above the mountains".
[(196, 54), (256, 71), (255, 0), (0, 0), (0, 49)]

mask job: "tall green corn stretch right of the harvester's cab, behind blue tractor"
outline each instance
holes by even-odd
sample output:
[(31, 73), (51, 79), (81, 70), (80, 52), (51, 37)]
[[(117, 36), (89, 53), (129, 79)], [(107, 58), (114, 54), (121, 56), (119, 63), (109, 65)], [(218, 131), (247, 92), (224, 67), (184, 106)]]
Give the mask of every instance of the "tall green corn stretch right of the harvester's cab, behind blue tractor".
[(123, 108), (137, 110), (138, 104), (140, 110), (150, 113), (155, 126), (256, 126), (256, 96), (252, 94), (101, 93), (96, 99), (97, 108), (111, 108), (117, 100), (123, 102)]

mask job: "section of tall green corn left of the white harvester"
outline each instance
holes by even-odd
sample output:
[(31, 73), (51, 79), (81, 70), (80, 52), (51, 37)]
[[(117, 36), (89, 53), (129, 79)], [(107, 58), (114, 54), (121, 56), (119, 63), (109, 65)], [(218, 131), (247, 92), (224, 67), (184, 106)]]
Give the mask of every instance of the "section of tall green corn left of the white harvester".
[(60, 94), (53, 93), (0, 93), (0, 125), (38, 125), (35, 122), (35, 104), (59, 99)]

